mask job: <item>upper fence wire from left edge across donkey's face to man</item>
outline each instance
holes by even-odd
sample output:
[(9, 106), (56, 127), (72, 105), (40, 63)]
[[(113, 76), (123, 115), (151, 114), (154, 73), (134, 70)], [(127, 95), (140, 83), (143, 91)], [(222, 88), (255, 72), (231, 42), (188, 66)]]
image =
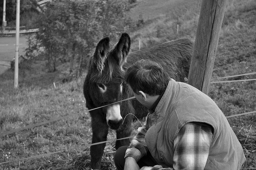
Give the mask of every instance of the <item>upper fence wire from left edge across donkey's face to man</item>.
[[(134, 96), (133, 97), (130, 97), (130, 98), (126, 98), (124, 100), (120, 100), (118, 102), (114, 102), (114, 103), (111, 103), (111, 104), (116, 104), (116, 103), (119, 103), (119, 102), (124, 102), (126, 100), (130, 100), (130, 99), (133, 99), (135, 98)], [(93, 108), (93, 109), (90, 109), (90, 110), (86, 110), (86, 112), (90, 112), (92, 110), (96, 110), (96, 109), (99, 109), (99, 108), (103, 108), (103, 107), (106, 107), (106, 106), (109, 106), (111, 104), (107, 104), (107, 105), (104, 105), (104, 106), (100, 106), (98, 108)], [(11, 133), (14, 133), (14, 132), (19, 132), (21, 130), (26, 130), (26, 129), (30, 129), (30, 128), (34, 128), (36, 126), (41, 126), (41, 125), (44, 125), (44, 124), (48, 124), (48, 123), (51, 123), (51, 122), (56, 122), (58, 120), (61, 120), (61, 119), (64, 119), (64, 118), (68, 118), (68, 117), (71, 117), (71, 116), (75, 116), (75, 115), (78, 115), (80, 113), (76, 113), (76, 114), (69, 114), (67, 116), (62, 116), (62, 117), (59, 117), (59, 118), (53, 118), (51, 120), (48, 120), (48, 121), (45, 121), (45, 122), (40, 122), (40, 123), (36, 123), (36, 124), (30, 124), (28, 126), (25, 126), (25, 127), (22, 127), (22, 128), (17, 128), (17, 129), (12, 129), (12, 130), (8, 130), (8, 131), (5, 131), (5, 132), (1, 132), (0, 133), (0, 136), (4, 136), (6, 134), (11, 134)]]

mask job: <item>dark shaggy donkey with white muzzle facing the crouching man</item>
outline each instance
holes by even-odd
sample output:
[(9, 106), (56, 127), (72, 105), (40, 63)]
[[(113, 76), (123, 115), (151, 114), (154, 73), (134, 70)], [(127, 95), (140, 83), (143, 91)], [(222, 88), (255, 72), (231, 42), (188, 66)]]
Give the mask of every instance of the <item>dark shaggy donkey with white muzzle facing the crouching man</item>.
[[(188, 77), (193, 50), (193, 43), (188, 39), (173, 40), (129, 55), (131, 40), (127, 33), (122, 34), (119, 42), (111, 50), (109, 41), (106, 37), (98, 42), (88, 64), (88, 74), (84, 81), (84, 96), (88, 109), (132, 96), (124, 82), (123, 73), (140, 59), (158, 62), (169, 73), (170, 78), (176, 81), (184, 82), (184, 78)], [(90, 111), (92, 143), (106, 141), (108, 128), (116, 130), (116, 139), (130, 136), (133, 117), (129, 113), (139, 118), (147, 115), (146, 109), (137, 100), (128, 100)], [(129, 143), (130, 139), (116, 140), (115, 147), (118, 149)], [(105, 145), (104, 143), (90, 147), (92, 169), (100, 169)]]

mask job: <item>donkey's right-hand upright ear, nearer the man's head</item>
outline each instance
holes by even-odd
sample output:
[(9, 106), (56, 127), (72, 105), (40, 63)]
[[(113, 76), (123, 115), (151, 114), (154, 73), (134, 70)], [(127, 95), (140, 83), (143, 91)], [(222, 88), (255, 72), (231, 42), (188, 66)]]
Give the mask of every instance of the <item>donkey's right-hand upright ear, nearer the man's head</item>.
[(119, 66), (122, 66), (126, 63), (126, 58), (129, 54), (131, 46), (131, 39), (127, 33), (123, 33), (119, 39), (119, 42), (116, 44), (113, 52), (113, 56), (118, 60)]

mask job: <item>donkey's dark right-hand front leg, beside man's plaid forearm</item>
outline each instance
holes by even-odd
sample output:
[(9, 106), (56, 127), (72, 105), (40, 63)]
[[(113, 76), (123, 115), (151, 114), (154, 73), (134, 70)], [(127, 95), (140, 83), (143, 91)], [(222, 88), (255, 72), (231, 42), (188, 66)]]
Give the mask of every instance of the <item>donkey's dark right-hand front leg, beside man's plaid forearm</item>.
[[(116, 139), (129, 137), (132, 133), (131, 125), (132, 125), (132, 119), (131, 118), (126, 119), (124, 124), (118, 130), (116, 130)], [(116, 140), (116, 149), (118, 149), (120, 146), (125, 146), (129, 144), (130, 144), (130, 138), (123, 139), (123, 140)]]

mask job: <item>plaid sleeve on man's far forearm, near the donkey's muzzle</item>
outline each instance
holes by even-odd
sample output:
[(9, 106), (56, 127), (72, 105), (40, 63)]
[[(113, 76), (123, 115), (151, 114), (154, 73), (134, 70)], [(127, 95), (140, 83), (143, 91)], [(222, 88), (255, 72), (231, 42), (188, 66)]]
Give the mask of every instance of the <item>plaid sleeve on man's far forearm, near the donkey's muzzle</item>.
[(138, 128), (138, 133), (132, 139), (130, 146), (126, 150), (124, 158), (130, 156), (138, 162), (140, 158), (147, 154), (148, 147), (145, 142), (145, 135), (150, 126), (152, 126), (152, 122), (147, 116), (146, 123), (142, 127)]

